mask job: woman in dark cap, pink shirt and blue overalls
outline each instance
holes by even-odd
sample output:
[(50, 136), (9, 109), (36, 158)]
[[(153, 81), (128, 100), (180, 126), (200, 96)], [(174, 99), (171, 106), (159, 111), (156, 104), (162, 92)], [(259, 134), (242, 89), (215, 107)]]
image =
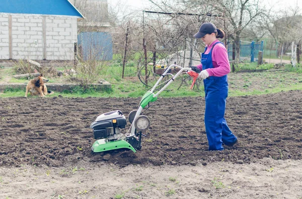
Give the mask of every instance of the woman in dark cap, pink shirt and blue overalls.
[(201, 70), (198, 77), (204, 82), (204, 124), (209, 150), (223, 150), (222, 144), (234, 146), (238, 142), (224, 119), (229, 89), (227, 74), (231, 71), (228, 52), (217, 40), (224, 38), (224, 32), (212, 23), (204, 23), (194, 37), (201, 38), (206, 45), (197, 68)]

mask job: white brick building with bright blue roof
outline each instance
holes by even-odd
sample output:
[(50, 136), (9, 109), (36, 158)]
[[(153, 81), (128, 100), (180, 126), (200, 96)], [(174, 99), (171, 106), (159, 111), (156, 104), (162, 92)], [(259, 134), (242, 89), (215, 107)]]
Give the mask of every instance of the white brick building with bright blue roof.
[(68, 0), (0, 0), (0, 59), (73, 60), (83, 18)]

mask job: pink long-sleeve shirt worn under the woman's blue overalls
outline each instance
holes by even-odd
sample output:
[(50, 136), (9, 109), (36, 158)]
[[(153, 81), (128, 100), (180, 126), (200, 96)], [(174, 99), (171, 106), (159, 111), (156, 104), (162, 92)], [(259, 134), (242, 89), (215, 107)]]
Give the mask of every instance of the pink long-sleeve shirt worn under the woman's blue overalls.
[[(215, 43), (219, 42), (215, 40), (210, 46), (207, 47), (207, 50), (204, 54), (209, 54)], [(216, 44), (212, 50), (212, 62), (214, 68), (206, 69), (209, 76), (221, 77), (231, 72), (231, 66), (228, 57), (228, 51), (226, 51), (223, 44)], [(197, 65), (199, 70), (202, 70), (202, 64)]]

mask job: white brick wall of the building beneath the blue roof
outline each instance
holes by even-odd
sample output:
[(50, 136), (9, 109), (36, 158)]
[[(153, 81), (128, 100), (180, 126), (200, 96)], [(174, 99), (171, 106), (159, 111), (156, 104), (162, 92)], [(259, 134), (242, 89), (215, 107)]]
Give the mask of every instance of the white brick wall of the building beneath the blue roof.
[[(43, 59), (43, 16), (0, 13), (0, 59), (9, 59), (9, 15), (12, 16), (12, 58)], [(46, 16), (46, 59), (73, 60), (78, 40), (77, 18)]]

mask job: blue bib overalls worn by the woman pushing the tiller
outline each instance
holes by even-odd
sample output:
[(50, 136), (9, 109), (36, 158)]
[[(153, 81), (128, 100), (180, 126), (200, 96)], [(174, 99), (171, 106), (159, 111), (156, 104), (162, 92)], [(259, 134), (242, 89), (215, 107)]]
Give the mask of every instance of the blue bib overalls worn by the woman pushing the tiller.
[[(213, 45), (209, 54), (202, 53), (201, 64), (202, 70), (214, 68), (212, 63), (212, 50), (217, 42)], [(205, 48), (206, 52), (207, 48)], [(228, 76), (222, 77), (211, 76), (205, 80), (205, 112), (204, 124), (206, 136), (209, 142), (209, 150), (223, 150), (222, 143), (229, 145), (237, 140), (224, 119), (225, 101), (228, 97)]]

